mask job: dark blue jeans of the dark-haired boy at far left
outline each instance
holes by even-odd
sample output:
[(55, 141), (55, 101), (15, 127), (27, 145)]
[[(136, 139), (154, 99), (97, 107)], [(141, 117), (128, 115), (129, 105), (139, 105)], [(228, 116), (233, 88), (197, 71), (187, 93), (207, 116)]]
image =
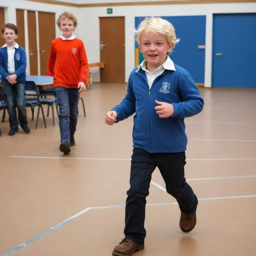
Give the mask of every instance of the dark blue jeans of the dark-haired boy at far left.
[[(26, 105), (25, 105), (25, 82), (10, 84), (3, 81), (5, 93), (7, 96), (7, 111), (9, 115), (10, 128), (18, 127), (18, 121), (21, 127), (27, 125)], [(18, 108), (18, 120), (16, 113)]]

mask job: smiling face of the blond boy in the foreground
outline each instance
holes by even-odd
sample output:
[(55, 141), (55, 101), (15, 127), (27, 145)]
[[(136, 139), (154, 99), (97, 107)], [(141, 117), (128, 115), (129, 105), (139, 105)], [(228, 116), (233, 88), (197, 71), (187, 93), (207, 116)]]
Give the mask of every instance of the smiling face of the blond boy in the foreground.
[(144, 30), (141, 33), (139, 48), (146, 60), (146, 68), (152, 72), (163, 64), (172, 47), (168, 44), (165, 35)]

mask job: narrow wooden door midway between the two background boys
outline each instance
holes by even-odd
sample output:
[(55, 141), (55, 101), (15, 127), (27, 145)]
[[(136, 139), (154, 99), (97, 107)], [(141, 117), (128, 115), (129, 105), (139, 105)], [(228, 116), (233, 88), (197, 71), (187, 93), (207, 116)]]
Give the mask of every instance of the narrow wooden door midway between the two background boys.
[(27, 29), (28, 29), (28, 44), (29, 44), (29, 63), (30, 74), (38, 74), (37, 65), (37, 45), (36, 45), (36, 19), (35, 11), (27, 11)]

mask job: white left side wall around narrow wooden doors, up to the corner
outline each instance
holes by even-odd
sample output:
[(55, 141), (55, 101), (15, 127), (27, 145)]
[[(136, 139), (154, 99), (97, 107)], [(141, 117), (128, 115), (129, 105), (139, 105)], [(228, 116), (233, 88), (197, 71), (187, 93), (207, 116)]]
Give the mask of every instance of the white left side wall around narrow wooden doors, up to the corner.
[[(80, 15), (81, 11), (77, 7), (47, 4), (47, 3), (38, 3), (38, 2), (32, 2), (32, 1), (27, 1), (27, 0), (0, 0), (0, 7), (4, 7), (5, 23), (10, 22), (13, 24), (16, 24), (16, 9), (55, 12), (56, 18), (58, 17), (58, 15), (60, 13), (62, 13), (64, 11), (70, 11), (76, 16), (78, 23), (81, 23), (81, 20), (79, 18), (82, 17), (82, 15)], [(36, 13), (36, 15), (37, 15), (37, 13)], [(26, 73), (29, 74), (30, 65), (29, 65), (29, 45), (28, 45), (28, 30), (27, 30), (26, 11), (24, 12), (24, 24), (25, 24), (24, 28), (25, 28), (25, 46), (26, 46), (25, 48), (26, 48), (26, 56), (27, 56)], [(37, 21), (36, 26), (38, 29), (38, 21)], [(61, 32), (56, 24), (55, 24), (55, 31), (56, 31), (56, 37), (61, 35)], [(79, 36), (78, 30), (75, 31), (75, 35)], [(38, 37), (38, 34), (34, 35), (34, 36)], [(37, 49), (37, 55), (40, 56), (39, 48)], [(40, 61), (38, 59), (38, 69), (39, 69), (39, 66), (40, 66)]]

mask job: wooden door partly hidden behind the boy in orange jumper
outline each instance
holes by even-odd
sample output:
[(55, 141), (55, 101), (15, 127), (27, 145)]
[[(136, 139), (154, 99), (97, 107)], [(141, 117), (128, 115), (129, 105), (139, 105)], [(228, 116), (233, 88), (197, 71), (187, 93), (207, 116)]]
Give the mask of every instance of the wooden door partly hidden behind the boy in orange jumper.
[(55, 13), (38, 11), (40, 74), (46, 75), (50, 44), (55, 39)]

